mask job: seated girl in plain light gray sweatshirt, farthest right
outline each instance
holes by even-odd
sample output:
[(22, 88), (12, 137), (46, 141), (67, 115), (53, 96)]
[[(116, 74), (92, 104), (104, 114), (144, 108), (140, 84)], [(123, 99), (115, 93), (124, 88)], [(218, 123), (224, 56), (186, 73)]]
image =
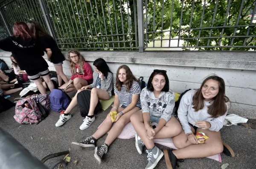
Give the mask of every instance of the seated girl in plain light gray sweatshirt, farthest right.
[[(173, 138), (178, 150), (164, 150), (167, 166), (175, 169), (177, 159), (203, 158), (223, 152), (219, 130), (227, 115), (228, 103), (224, 80), (218, 76), (207, 77), (200, 89), (183, 95), (178, 109), (183, 130)], [(203, 132), (209, 138), (199, 144), (196, 132)]]

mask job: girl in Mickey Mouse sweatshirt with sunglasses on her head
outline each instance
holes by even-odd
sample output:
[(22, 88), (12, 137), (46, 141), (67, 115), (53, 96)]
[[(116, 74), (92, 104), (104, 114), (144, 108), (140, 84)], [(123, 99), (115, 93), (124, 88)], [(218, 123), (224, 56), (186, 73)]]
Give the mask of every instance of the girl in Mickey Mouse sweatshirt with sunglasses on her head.
[[(145, 169), (153, 169), (163, 157), (163, 152), (154, 145), (153, 139), (170, 138), (181, 132), (178, 120), (172, 116), (175, 106), (174, 92), (169, 90), (169, 79), (165, 70), (154, 70), (148, 85), (140, 93), (141, 111), (131, 116), (131, 123), (137, 134), (135, 146), (139, 154), (145, 145), (148, 164)], [(157, 123), (152, 127), (151, 123)]]

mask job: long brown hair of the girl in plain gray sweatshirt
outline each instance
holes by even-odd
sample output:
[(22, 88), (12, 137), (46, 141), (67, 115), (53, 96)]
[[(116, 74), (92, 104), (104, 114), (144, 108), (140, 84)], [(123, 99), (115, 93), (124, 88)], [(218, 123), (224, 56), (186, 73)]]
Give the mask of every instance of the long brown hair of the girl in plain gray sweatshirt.
[(198, 112), (199, 110), (204, 108), (204, 97), (201, 91), (202, 87), (204, 86), (204, 83), (206, 83), (206, 81), (209, 79), (218, 81), (218, 94), (212, 98), (212, 100), (210, 101), (210, 103), (212, 104), (208, 106), (208, 114), (215, 118), (222, 116), (227, 112), (226, 103), (230, 101), (229, 98), (225, 95), (225, 82), (221, 77), (207, 77), (201, 84), (200, 89), (198, 89), (197, 92), (195, 92), (195, 95), (193, 96), (192, 105), (193, 109), (195, 109), (195, 112)]

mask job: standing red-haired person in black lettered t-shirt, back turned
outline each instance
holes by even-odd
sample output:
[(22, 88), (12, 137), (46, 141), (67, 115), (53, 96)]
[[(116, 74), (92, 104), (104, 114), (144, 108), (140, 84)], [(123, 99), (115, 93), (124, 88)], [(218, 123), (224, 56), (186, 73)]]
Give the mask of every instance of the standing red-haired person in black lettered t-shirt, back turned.
[(28, 26), (24, 22), (16, 22), (13, 26), (13, 35), (0, 40), (0, 49), (14, 54), (21, 70), (25, 70), (30, 80), (34, 80), (41, 94), (46, 94), (40, 76), (52, 91), (54, 85), (49, 77), (48, 64), (42, 57), (44, 51), (40, 43), (33, 38)]

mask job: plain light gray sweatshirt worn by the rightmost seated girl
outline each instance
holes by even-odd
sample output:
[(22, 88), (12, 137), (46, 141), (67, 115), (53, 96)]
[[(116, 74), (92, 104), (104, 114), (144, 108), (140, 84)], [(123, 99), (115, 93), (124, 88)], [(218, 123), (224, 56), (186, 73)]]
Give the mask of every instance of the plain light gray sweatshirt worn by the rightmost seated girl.
[[(195, 92), (196, 90), (189, 90), (188, 92), (186, 92), (185, 95), (183, 95), (183, 97), (180, 100), (178, 117), (185, 134), (192, 132), (189, 123), (191, 123), (194, 126), (197, 126), (195, 125), (195, 123), (198, 121), (208, 121), (211, 124), (209, 130), (218, 132), (223, 127), (224, 119), (227, 115), (227, 112), (220, 117), (212, 118), (211, 115), (208, 114), (207, 106), (209, 106), (210, 103), (207, 101), (204, 101), (203, 109), (199, 110), (198, 112), (195, 112), (195, 109), (192, 108), (192, 99)], [(228, 104), (226, 105), (228, 109)], [(200, 128), (199, 126), (197, 127)]]

